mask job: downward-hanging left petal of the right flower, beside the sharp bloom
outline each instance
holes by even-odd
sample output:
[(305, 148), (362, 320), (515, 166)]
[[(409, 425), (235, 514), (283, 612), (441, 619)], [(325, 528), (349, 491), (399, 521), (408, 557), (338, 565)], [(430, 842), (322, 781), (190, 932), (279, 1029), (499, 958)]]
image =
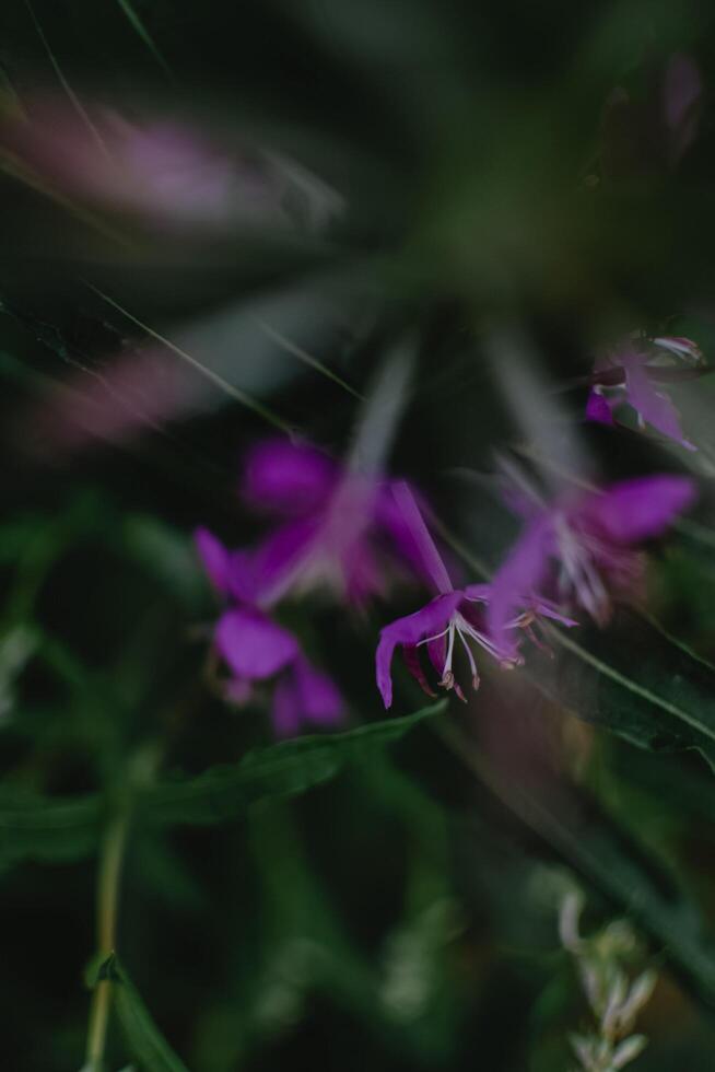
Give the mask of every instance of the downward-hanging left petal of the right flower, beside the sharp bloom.
[(488, 611), (489, 633), (497, 648), (514, 652), (515, 643), (506, 626), (515, 610), (538, 592), (544, 581), (549, 559), (554, 549), (553, 523), (548, 514), (541, 514), (527, 525), (516, 541), (512, 554), (500, 567), (491, 583)]

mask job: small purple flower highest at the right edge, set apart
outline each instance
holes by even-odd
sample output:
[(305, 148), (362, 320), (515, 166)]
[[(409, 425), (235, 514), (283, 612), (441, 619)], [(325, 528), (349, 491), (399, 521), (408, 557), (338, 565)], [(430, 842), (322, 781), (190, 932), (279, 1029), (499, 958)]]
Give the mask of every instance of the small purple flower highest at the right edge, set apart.
[[(657, 363), (666, 357), (670, 364)], [(650, 424), (661, 435), (694, 451), (696, 447), (682, 433), (676, 407), (663, 391), (656, 389), (655, 383), (691, 378), (702, 371), (702, 353), (690, 339), (657, 338), (649, 349), (625, 343), (597, 361), (586, 417), (601, 424), (614, 424), (614, 410), (628, 404), (635, 410), (641, 428)]]

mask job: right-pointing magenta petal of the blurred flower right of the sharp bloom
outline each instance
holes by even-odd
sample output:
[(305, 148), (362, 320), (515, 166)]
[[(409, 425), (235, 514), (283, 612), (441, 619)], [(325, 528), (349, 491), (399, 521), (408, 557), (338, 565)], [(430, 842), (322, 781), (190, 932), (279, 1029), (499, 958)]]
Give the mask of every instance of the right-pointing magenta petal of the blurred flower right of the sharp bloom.
[(660, 536), (695, 500), (689, 477), (653, 476), (622, 480), (603, 494), (591, 494), (574, 511), (574, 522), (603, 533), (616, 544), (636, 544)]

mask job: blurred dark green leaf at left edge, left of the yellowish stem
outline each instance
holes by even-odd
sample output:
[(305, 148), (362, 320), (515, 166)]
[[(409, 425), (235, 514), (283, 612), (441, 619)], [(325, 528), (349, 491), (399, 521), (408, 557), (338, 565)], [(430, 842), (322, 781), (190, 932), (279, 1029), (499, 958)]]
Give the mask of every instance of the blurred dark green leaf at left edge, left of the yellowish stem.
[(95, 794), (52, 800), (5, 792), (0, 795), (0, 866), (90, 855), (99, 842), (103, 815)]

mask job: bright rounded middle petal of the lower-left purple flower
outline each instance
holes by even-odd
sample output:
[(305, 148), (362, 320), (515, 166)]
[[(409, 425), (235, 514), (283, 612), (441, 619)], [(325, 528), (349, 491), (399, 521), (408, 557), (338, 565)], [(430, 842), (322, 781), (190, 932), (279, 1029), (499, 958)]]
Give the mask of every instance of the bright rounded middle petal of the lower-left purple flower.
[(216, 648), (237, 677), (270, 677), (295, 659), (297, 641), (259, 610), (226, 610), (215, 630)]

